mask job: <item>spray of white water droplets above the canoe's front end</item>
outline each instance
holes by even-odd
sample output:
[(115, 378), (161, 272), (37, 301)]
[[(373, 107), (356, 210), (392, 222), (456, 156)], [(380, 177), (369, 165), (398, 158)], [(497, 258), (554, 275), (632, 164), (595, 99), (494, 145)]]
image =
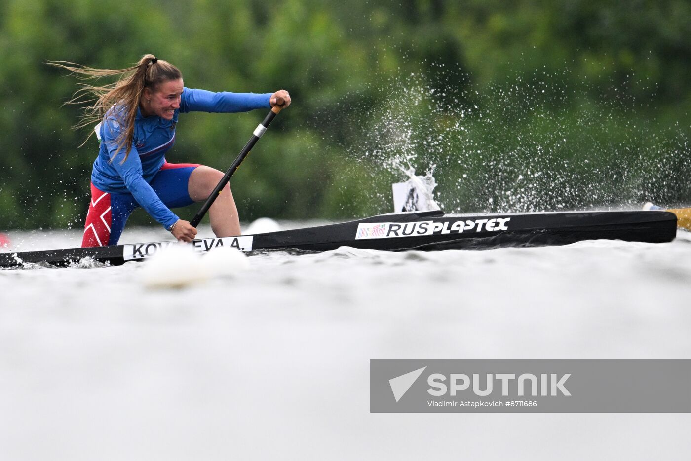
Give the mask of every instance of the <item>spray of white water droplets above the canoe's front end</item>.
[[(411, 74), (368, 88), (375, 102), (348, 107), (357, 137), (345, 150), (366, 163), (359, 187), (386, 209), (381, 184), (424, 171), (446, 211), (505, 212), (637, 206), (691, 199), (691, 148), (652, 101), (613, 86), (536, 72), (486, 88), (452, 88), (448, 75)], [(357, 98), (354, 98), (357, 99)], [(437, 166), (436, 174), (434, 166)], [(369, 184), (367, 184), (369, 182)], [(388, 186), (388, 185), (387, 185)]]

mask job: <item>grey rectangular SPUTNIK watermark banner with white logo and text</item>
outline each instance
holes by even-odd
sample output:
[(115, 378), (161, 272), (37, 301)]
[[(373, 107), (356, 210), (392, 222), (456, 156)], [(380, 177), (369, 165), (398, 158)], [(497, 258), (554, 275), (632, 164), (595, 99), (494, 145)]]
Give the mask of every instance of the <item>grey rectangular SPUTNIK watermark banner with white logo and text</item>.
[(691, 412), (691, 360), (371, 360), (370, 411)]

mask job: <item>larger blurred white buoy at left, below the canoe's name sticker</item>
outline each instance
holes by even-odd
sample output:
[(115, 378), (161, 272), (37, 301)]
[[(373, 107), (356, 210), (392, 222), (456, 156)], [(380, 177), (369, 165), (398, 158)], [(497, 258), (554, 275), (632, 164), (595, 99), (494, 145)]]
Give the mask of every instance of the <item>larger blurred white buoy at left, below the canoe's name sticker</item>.
[(173, 244), (146, 261), (142, 282), (147, 288), (185, 288), (208, 280), (212, 272), (191, 245)]

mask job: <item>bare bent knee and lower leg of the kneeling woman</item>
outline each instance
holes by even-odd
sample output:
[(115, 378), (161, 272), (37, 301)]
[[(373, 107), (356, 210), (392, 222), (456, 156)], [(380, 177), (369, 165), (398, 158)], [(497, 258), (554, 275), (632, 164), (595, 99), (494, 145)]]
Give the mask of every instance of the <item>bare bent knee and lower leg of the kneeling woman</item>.
[[(195, 202), (204, 202), (221, 178), (223, 178), (223, 173), (220, 171), (210, 166), (198, 166), (189, 176), (189, 197)], [(233, 193), (228, 184), (209, 208), (209, 219), (211, 219), (211, 230), (214, 231), (216, 237), (240, 235), (238, 208), (235, 206)]]

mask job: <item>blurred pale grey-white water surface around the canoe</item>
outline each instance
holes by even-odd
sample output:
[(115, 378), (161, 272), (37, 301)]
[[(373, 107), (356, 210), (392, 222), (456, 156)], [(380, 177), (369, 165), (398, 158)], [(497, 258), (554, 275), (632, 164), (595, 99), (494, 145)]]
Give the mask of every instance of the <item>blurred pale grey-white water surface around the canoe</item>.
[[(11, 237), (23, 251), (79, 241)], [(128, 229), (122, 243), (165, 238)], [(689, 233), (249, 262), (178, 290), (145, 288), (135, 262), (1, 270), (0, 459), (643, 460), (691, 449), (690, 415), (369, 413), (370, 359), (689, 358)]]

